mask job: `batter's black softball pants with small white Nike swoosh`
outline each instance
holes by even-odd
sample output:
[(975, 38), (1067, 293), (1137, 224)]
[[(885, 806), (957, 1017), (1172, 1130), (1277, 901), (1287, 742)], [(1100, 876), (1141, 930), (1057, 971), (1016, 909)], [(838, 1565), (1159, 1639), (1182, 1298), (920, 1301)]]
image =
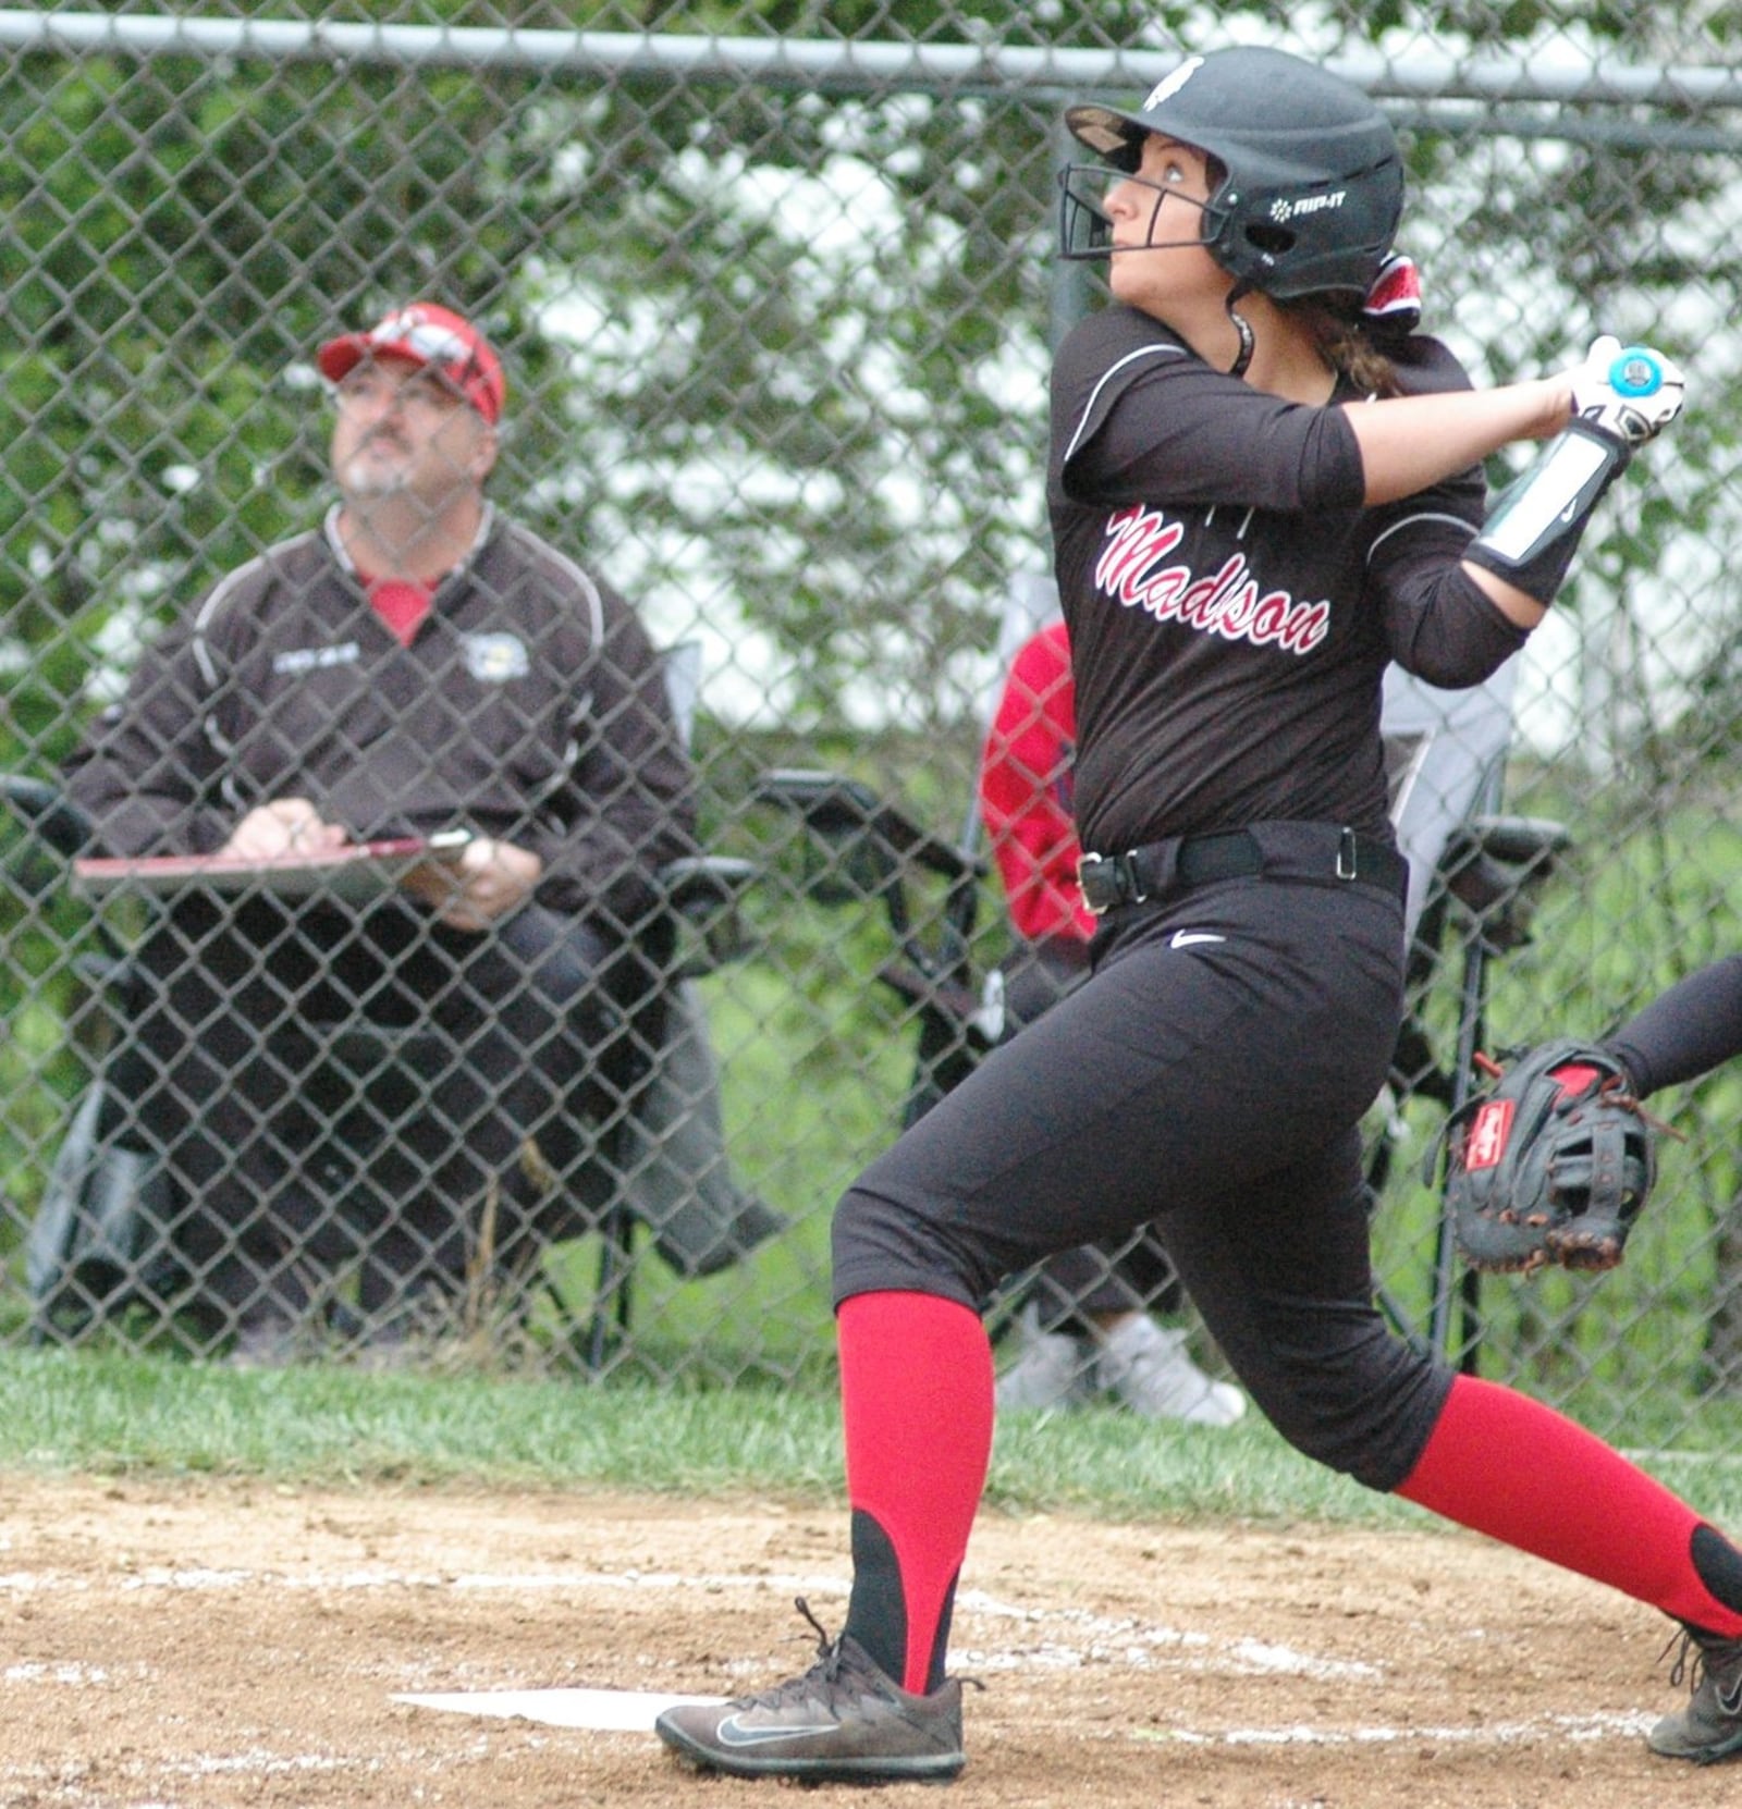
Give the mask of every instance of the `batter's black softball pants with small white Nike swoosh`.
[(1402, 908), (1243, 877), (1107, 919), (1094, 977), (879, 1158), (834, 1221), (836, 1302), (999, 1281), (1158, 1221), (1241, 1384), (1375, 1489), (1415, 1467), (1451, 1375), (1375, 1306), (1359, 1122), (1402, 1000)]

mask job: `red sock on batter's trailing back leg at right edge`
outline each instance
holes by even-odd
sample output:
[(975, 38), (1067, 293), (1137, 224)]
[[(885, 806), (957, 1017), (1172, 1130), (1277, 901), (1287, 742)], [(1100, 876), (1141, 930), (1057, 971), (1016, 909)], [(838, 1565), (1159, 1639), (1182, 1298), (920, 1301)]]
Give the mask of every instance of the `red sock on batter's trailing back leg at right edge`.
[(1735, 1547), (1619, 1451), (1529, 1395), (1460, 1375), (1396, 1492), (1679, 1621), (1726, 1639), (1742, 1634), (1742, 1612), (1729, 1605), (1742, 1605)]

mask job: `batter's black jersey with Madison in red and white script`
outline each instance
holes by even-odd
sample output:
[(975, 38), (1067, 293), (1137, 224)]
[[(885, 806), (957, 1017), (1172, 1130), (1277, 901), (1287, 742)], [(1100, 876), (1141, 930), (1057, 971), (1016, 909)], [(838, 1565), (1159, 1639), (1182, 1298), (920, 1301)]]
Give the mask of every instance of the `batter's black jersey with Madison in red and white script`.
[[(1469, 387), (1429, 338), (1398, 382)], [(1460, 570), (1478, 469), (1368, 508), (1340, 407), (1216, 371), (1132, 308), (1058, 353), (1047, 492), (1085, 848), (1279, 818), (1384, 834), (1386, 664), (1480, 684), (1525, 639)]]

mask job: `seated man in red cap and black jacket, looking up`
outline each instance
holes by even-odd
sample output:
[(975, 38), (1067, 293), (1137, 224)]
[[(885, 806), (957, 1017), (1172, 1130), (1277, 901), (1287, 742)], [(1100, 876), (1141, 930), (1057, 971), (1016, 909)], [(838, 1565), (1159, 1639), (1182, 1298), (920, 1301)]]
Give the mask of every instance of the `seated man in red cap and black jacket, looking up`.
[[(487, 1199), (499, 1252), (552, 1198), (573, 1210), (550, 1170), (586, 1185), (575, 1107), (613, 1107), (601, 1076), (657, 984), (653, 874), (691, 848), (689, 765), (640, 622), (485, 497), (496, 351), (418, 302), (317, 362), (338, 503), (147, 651), (71, 776), (121, 856), (470, 832), (452, 867), (369, 904), (179, 895), (139, 952), (150, 997), (116, 1091), (172, 1181), (190, 1295), (244, 1360), (288, 1355), (358, 1257), (365, 1324), (394, 1348), (458, 1297)], [(335, 1212), (304, 1174), (326, 1113), (284, 1055), (288, 1028), (355, 1015), (420, 1024), (441, 1049), (414, 1131), (385, 1075), (362, 1084), (358, 1109), (405, 1131), (398, 1145), (434, 1136), (421, 1172), (376, 1163), (362, 1223), (355, 1190)]]

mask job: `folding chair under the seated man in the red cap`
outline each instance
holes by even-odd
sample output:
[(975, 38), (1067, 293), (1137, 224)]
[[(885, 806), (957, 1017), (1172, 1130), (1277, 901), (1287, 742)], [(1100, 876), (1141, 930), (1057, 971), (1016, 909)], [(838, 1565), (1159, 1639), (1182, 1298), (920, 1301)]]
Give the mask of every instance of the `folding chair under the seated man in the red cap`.
[[(696, 651), (689, 644), (666, 655), (667, 689), (686, 740), (695, 716), (696, 666)], [(62, 876), (65, 865), (87, 850), (90, 825), (58, 785), (0, 774), (0, 800), (27, 829), (31, 852), (58, 863)], [(689, 986), (696, 975), (747, 950), (740, 904), (756, 870), (742, 859), (696, 856), (671, 863), (658, 877), (664, 910), (649, 953), (669, 984), (655, 997), (637, 1033), (624, 1038), (626, 1055), (611, 1076), (622, 1103), (593, 1165), (604, 1178), (597, 1203), (602, 1239), (599, 1284), (584, 1328), (550, 1284), (570, 1328), (570, 1348), (595, 1366), (611, 1340), (610, 1328), (622, 1331), (630, 1321), (628, 1246), (639, 1223), (637, 1212), (648, 1207), (642, 1196), (651, 1192), (657, 1199), (660, 1217), (655, 1219), (655, 1234), (662, 1236), (662, 1248), (698, 1248), (704, 1241), (696, 1199), (675, 1185), (669, 1161), (660, 1163), (658, 1158), (669, 1141), (675, 1114), (686, 1107), (705, 1111), (709, 1102), (696, 1098), (698, 1082), (693, 1078), (684, 1085), (684, 1098), (673, 1102), (664, 1056), (678, 1040), (693, 1044), (698, 1035), (705, 1037), (700, 1000)], [(47, 883), (52, 879), (45, 881), (38, 868), (34, 890)], [(80, 971), (92, 991), (109, 1000), (118, 1022), (125, 1022), (136, 986), (132, 964), (101, 915), (94, 919), (94, 933), (98, 946), (80, 957)], [(425, 1044), (434, 1044), (434, 1038), (373, 1022), (329, 1026), (320, 1033), (320, 1060), (313, 1064), (308, 1085), (329, 1134), (306, 1152), (306, 1167), (331, 1192), (365, 1194), (380, 1185), (371, 1174), (371, 1140), (356, 1134), (355, 1082), (371, 1076), (369, 1084), (376, 1087), (385, 1076), (398, 1098), (389, 1100), (380, 1116), (409, 1114), (418, 1102), (421, 1073), (434, 1058)], [(687, 1058), (686, 1075), (693, 1076), (693, 1047)], [(702, 1085), (715, 1078), (711, 1067), (704, 1067), (704, 1075)], [(649, 1129), (640, 1114), (653, 1096), (664, 1102), (664, 1129)], [(177, 1292), (174, 1259), (163, 1239), (152, 1237), (152, 1227), (170, 1217), (166, 1183), (145, 1154), (116, 1134), (116, 1118), (109, 1075), (99, 1071), (62, 1140), (27, 1237), (25, 1283), (33, 1304), (31, 1330), (38, 1340), (76, 1340), (92, 1322), (134, 1301), (161, 1312)], [(657, 1189), (639, 1187), (655, 1172)], [(391, 1199), (376, 1199), (374, 1210), (391, 1210)], [(687, 1221), (675, 1227), (671, 1221), (682, 1214)], [(705, 1270), (707, 1257), (698, 1255), (696, 1264)]]

